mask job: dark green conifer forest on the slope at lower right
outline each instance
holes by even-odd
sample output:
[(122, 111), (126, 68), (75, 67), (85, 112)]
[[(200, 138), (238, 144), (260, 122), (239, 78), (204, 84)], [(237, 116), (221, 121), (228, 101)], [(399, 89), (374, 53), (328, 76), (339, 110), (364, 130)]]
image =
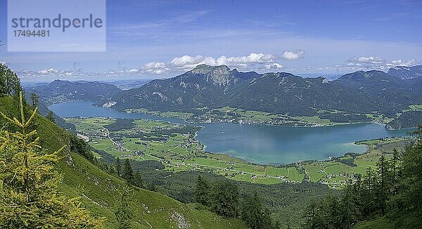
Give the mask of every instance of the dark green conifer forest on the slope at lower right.
[(392, 158), (378, 159), (350, 181), (342, 195), (312, 201), (306, 211), (305, 228), (352, 228), (359, 221), (384, 217), (397, 228), (419, 228), (422, 218), (422, 126), (416, 140)]

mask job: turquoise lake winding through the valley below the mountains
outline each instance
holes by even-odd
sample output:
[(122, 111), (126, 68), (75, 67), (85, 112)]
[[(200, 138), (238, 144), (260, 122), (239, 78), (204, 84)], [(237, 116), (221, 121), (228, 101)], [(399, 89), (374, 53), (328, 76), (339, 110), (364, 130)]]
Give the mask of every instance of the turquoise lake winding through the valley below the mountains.
[(346, 152), (362, 153), (366, 151), (366, 146), (354, 145), (357, 140), (407, 135), (407, 130), (388, 131), (384, 125), (373, 123), (325, 127), (188, 124), (182, 119), (118, 112), (82, 101), (59, 103), (49, 108), (60, 117), (153, 119), (203, 126), (196, 139), (206, 145), (205, 150), (226, 153), (258, 164), (290, 164), (309, 159), (324, 160)]

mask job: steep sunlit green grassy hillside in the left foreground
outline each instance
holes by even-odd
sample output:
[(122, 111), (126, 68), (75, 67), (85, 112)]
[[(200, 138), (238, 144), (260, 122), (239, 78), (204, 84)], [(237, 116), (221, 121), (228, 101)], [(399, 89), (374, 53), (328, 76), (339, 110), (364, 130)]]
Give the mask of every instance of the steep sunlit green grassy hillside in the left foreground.
[[(0, 111), (18, 117), (17, 105), (12, 98), (0, 98)], [(27, 112), (29, 113), (29, 112)], [(0, 126), (4, 120), (0, 119)], [(13, 129), (8, 126), (8, 129)], [(62, 145), (69, 145), (70, 135), (55, 124), (38, 115), (33, 129), (41, 137), (41, 145), (49, 152)], [(107, 218), (106, 228), (116, 228), (113, 211), (120, 204), (124, 181), (102, 171), (75, 152), (66, 150), (57, 166), (63, 173), (60, 190), (69, 197), (82, 196), (82, 202), (93, 215)], [(134, 228), (247, 228), (238, 219), (226, 219), (210, 211), (196, 210), (192, 205), (141, 188), (131, 188), (129, 206), (134, 218)]]

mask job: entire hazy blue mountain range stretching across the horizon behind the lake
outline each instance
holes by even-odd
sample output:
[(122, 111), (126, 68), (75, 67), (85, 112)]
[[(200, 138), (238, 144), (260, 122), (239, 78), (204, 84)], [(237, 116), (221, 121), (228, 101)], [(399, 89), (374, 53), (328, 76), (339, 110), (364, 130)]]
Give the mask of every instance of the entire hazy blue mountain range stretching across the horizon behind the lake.
[[(127, 91), (98, 81), (62, 80), (25, 90), (41, 96), (42, 105), (89, 100), (121, 111), (145, 108), (195, 114), (229, 106), (328, 119), (343, 119), (354, 114), (357, 117), (354, 122), (368, 122), (364, 114), (383, 114), (395, 119), (408, 110), (409, 105), (422, 105), (422, 65), (394, 67), (388, 73), (357, 71), (333, 81), (324, 77), (303, 78), (287, 72), (258, 74), (238, 72), (225, 65), (198, 65), (176, 77), (155, 79)], [(395, 122), (388, 128), (408, 128), (419, 121), (422, 120)], [(69, 129), (68, 126), (63, 128)]]

